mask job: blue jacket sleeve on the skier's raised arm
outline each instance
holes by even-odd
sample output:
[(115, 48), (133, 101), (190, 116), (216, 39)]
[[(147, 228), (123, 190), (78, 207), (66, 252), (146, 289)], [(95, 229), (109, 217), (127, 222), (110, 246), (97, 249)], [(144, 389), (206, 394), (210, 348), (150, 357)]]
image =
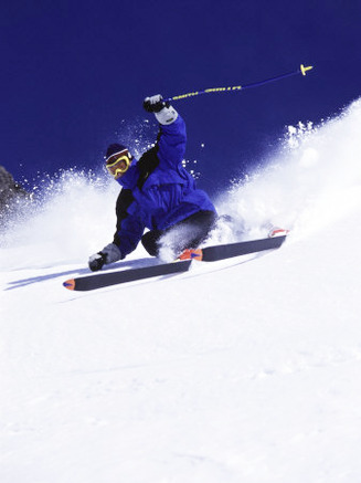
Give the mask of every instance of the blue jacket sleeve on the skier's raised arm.
[(174, 168), (178, 166), (184, 158), (185, 144), (185, 123), (180, 115), (169, 125), (160, 124), (158, 135), (158, 158), (160, 168), (162, 165), (164, 168)]

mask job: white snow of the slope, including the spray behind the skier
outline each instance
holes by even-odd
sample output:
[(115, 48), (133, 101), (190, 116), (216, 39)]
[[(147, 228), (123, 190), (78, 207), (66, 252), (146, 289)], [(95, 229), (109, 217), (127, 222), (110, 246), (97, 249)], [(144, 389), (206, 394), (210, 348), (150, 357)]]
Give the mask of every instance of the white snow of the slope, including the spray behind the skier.
[(116, 183), (77, 172), (3, 233), (0, 482), (360, 482), (360, 99), (290, 126), (217, 200), (291, 230), (245, 263), (65, 290), (115, 224)]

